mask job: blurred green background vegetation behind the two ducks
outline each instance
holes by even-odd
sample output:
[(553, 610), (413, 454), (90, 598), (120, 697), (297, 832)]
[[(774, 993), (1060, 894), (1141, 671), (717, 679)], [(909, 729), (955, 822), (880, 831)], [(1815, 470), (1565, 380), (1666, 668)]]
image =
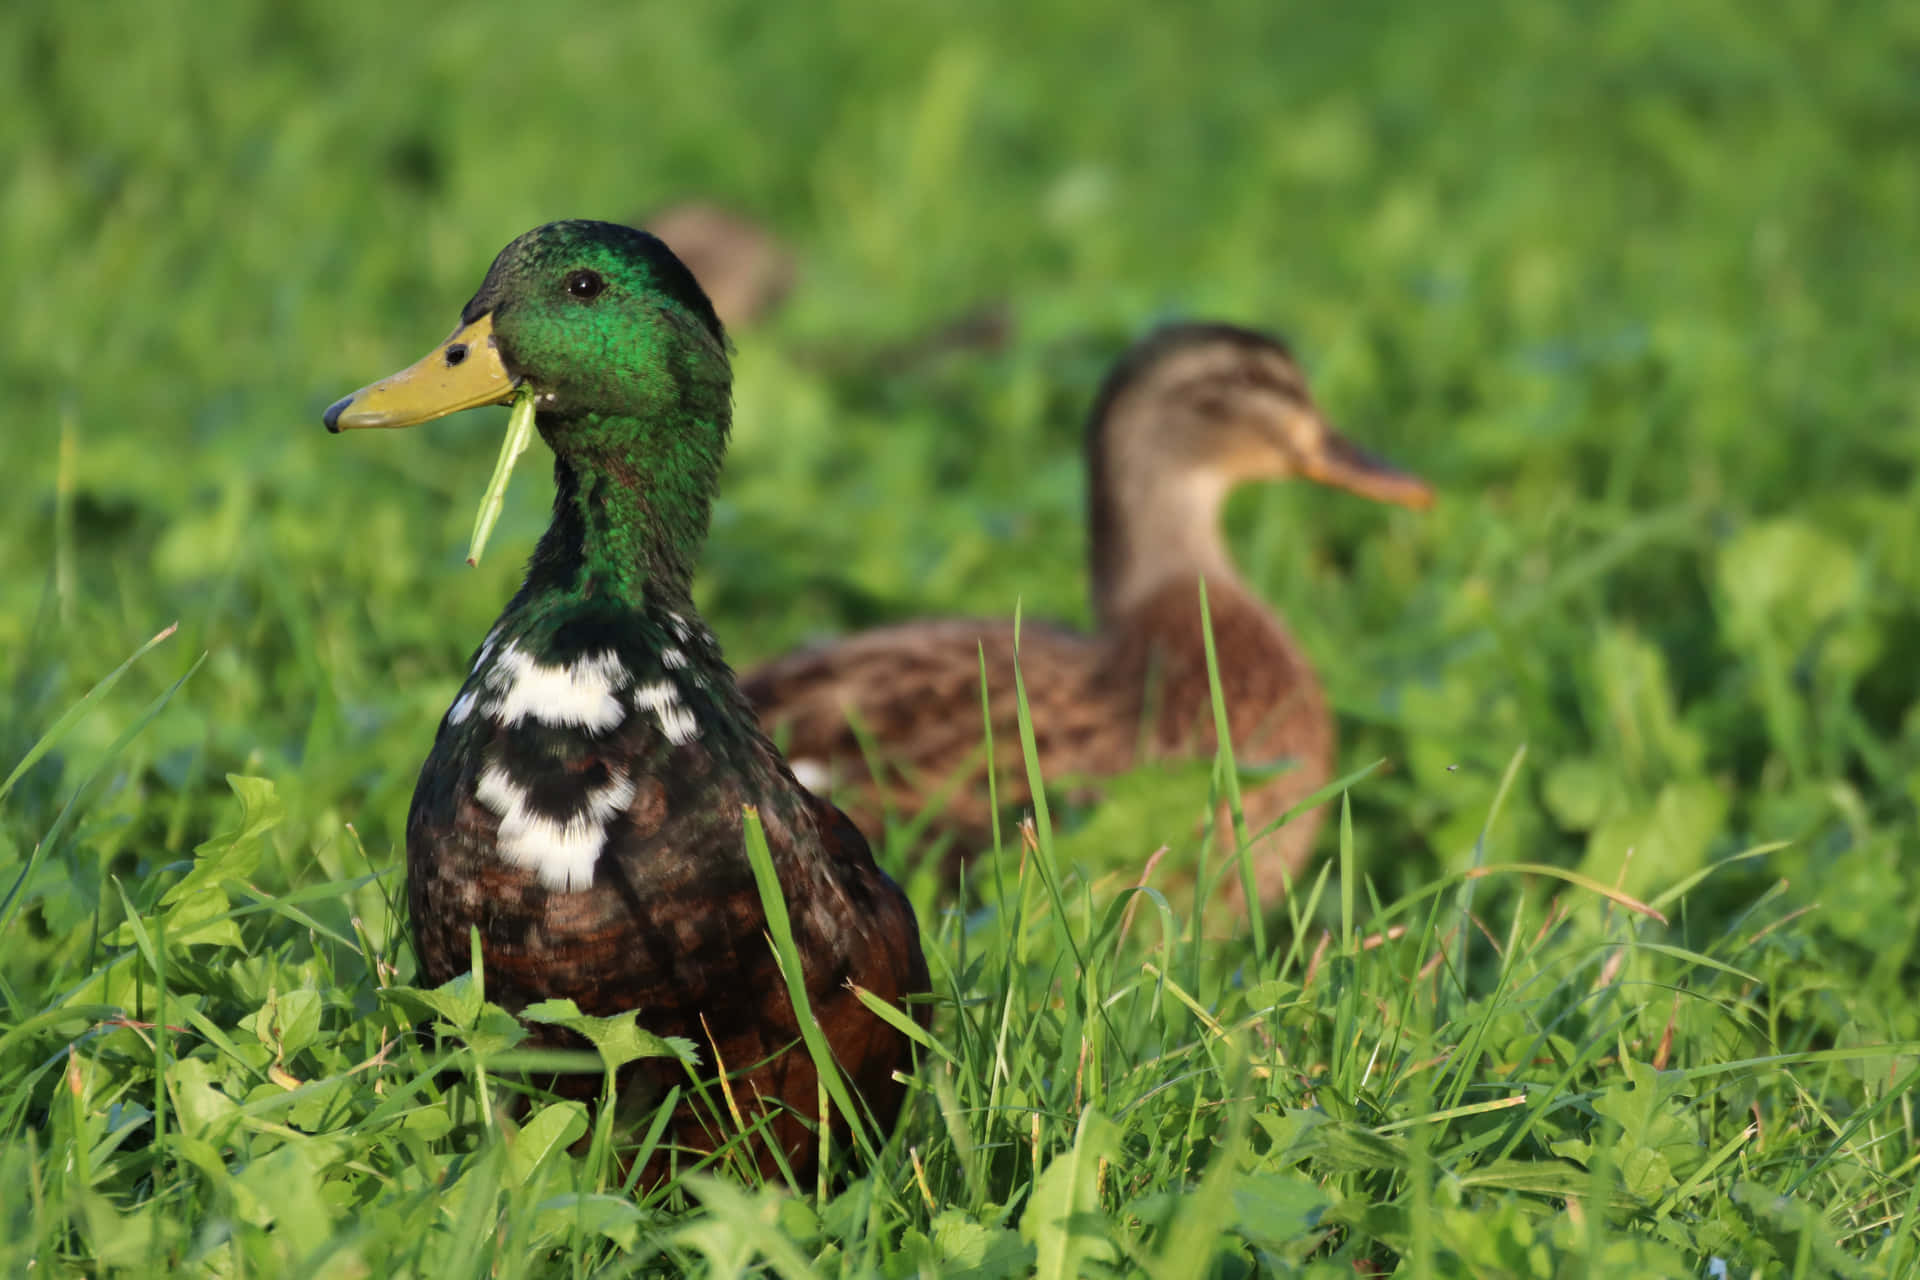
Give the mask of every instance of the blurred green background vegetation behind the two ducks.
[[(338, 873), (346, 821), (394, 865), (545, 459), (467, 570), (503, 415), (319, 413), (515, 234), (703, 196), (801, 259), (739, 334), (701, 578), (735, 664), (1085, 620), (1106, 363), (1158, 319), (1279, 328), (1442, 495), (1231, 510), (1344, 760), (1392, 760), (1354, 794), (1382, 892), (1471, 856), (1526, 745), (1490, 860), (1649, 890), (1791, 841), (1715, 892), (1784, 877), (1809, 938), (1910, 973), (1920, 6), (17, 0), (0, 31), (0, 770), (180, 624), (6, 798), (0, 864), (207, 654), (44, 850), (33, 963), (204, 839), (228, 771), (288, 804), (269, 885)], [(1000, 349), (874, 355), (1002, 301)]]

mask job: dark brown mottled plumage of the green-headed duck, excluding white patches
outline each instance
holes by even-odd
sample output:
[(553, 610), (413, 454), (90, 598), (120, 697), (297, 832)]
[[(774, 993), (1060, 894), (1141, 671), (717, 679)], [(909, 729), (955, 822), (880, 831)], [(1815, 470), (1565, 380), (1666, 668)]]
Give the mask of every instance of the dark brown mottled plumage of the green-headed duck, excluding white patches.
[[(712, 656), (718, 662), (718, 651)], [(691, 706), (707, 712), (699, 702)], [(735, 710), (745, 716), (743, 706)], [(716, 718), (703, 720), (701, 739), (666, 752), (647, 741), (645, 725), (634, 725), (570, 762), (591, 768), (626, 760), (637, 781), (611, 823), (593, 889), (566, 894), (495, 854), (501, 819), (470, 789), (444, 793), (428, 781), (426, 770), (465, 754), (447, 743), (451, 735), (442, 735), (407, 823), (420, 977), (438, 984), (465, 973), (468, 929), (480, 927), (488, 1000), (524, 1009), (568, 996), (591, 1017), (639, 1009), (643, 1029), (693, 1042), (701, 1079), (724, 1067), (747, 1121), (766, 1113), (774, 1146), (806, 1176), (820, 1153), (812, 1125), (820, 1115), (818, 1082), (751, 869), (743, 858), (726, 856), (743, 848), (741, 808), (753, 804), (766, 831), (812, 1013), (849, 1084), (883, 1126), (904, 1102), (895, 1073), (906, 1071), (910, 1057), (899, 1032), (874, 1017), (849, 983), (897, 1007), (924, 992), (918, 925), (899, 889), (874, 867), (860, 831), (826, 800), (797, 791), (762, 735), (728, 735)], [(505, 733), (493, 727), (492, 737), (499, 756), (513, 754)], [(925, 1007), (916, 1015), (925, 1021)], [(584, 1048), (557, 1027), (528, 1031), (532, 1046)], [(601, 1088), (593, 1075), (551, 1084), (580, 1100), (597, 1098)], [(628, 1063), (618, 1073), (622, 1115), (645, 1128), (647, 1113), (674, 1084), (684, 1092), (689, 1086), (678, 1059)], [(712, 1096), (720, 1100), (718, 1090)], [(845, 1148), (845, 1117), (837, 1121)], [(733, 1123), (716, 1109), (682, 1103), (641, 1184), (655, 1186), (676, 1163), (687, 1167), (699, 1153), (735, 1140)], [(747, 1151), (762, 1176), (776, 1176), (764, 1146)]]

